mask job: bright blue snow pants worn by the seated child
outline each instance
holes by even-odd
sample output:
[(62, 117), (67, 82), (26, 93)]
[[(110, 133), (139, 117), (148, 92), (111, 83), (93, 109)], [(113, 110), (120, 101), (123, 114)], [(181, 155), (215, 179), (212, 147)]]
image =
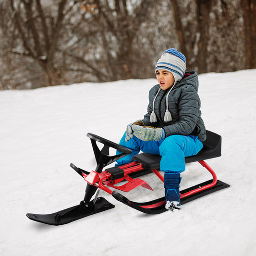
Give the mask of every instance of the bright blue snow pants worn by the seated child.
[[(124, 133), (119, 144), (130, 148), (132, 154), (119, 159), (118, 165), (131, 162), (132, 157), (142, 151), (162, 157), (161, 171), (176, 173), (185, 171), (185, 157), (196, 155), (203, 148), (203, 143), (192, 135), (171, 135), (160, 141), (142, 141), (134, 136), (126, 142)], [(117, 151), (117, 154), (120, 153)]]

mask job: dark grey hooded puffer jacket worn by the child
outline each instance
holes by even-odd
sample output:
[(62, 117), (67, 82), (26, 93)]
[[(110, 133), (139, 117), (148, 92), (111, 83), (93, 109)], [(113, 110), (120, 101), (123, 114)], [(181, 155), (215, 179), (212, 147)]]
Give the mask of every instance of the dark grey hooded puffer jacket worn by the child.
[[(165, 136), (174, 134), (195, 135), (200, 141), (206, 140), (206, 128), (201, 118), (201, 101), (197, 94), (198, 76), (196, 71), (188, 71), (184, 78), (174, 87), (167, 90), (158, 90), (160, 85), (155, 85), (149, 91), (149, 104), (147, 113), (142, 120), (144, 125), (161, 127), (164, 129)], [(168, 97), (168, 109), (171, 112), (172, 120), (164, 122), (166, 112), (166, 96)], [(150, 122), (150, 114), (153, 110), (153, 100), (156, 97), (154, 111), (157, 122)]]

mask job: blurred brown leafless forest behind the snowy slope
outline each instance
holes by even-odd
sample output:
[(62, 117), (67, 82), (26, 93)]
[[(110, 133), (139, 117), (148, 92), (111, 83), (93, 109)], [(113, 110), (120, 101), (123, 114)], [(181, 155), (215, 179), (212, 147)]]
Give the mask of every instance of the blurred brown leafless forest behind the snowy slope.
[(0, 0), (0, 90), (256, 68), (256, 0)]

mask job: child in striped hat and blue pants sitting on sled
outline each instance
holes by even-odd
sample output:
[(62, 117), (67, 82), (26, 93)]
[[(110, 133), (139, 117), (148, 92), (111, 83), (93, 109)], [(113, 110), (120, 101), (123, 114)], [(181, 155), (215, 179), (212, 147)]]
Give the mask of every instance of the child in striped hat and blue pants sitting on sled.
[(196, 155), (203, 147), (206, 129), (201, 118), (198, 77), (186, 70), (185, 56), (176, 49), (166, 50), (156, 64), (158, 85), (149, 91), (144, 119), (130, 123), (120, 145), (133, 153), (117, 161), (131, 161), (141, 151), (160, 155), (164, 171), (167, 209), (181, 208), (180, 173), (185, 171), (185, 157)]

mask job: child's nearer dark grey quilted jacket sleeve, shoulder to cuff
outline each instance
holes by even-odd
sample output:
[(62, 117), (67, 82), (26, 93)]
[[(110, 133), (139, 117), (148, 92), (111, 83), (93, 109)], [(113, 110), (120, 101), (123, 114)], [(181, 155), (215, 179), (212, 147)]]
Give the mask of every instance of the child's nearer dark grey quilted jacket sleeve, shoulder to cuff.
[(197, 122), (200, 109), (200, 98), (192, 86), (184, 87), (178, 103), (179, 120), (163, 127), (165, 136), (174, 134), (191, 134)]

